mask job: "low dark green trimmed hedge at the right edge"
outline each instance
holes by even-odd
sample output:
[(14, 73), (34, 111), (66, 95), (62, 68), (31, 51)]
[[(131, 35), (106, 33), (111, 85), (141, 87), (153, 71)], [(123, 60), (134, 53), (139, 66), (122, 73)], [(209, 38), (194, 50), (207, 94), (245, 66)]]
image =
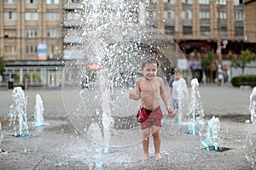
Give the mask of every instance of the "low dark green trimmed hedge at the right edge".
[(241, 75), (233, 77), (231, 83), (235, 87), (240, 87), (241, 85), (248, 85), (250, 87), (256, 86), (256, 75)]

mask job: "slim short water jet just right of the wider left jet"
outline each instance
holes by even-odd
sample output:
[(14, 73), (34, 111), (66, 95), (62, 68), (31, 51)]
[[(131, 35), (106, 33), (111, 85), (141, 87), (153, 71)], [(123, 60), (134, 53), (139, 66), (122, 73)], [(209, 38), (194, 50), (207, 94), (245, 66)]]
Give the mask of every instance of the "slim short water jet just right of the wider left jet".
[(43, 100), (40, 96), (40, 94), (36, 95), (36, 105), (35, 105), (35, 111), (34, 111), (34, 116), (35, 116), (35, 122), (34, 125), (36, 127), (40, 127), (44, 125), (44, 105), (43, 105)]

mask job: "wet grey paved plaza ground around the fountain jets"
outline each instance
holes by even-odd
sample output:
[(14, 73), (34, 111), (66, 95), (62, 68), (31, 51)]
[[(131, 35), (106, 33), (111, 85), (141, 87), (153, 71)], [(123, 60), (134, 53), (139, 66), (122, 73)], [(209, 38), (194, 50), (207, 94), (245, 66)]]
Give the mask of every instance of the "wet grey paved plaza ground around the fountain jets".
[[(211, 84), (200, 85), (199, 91), (206, 119), (217, 116), (221, 123), (220, 147), (229, 150), (202, 150), (200, 136), (186, 133), (188, 124), (181, 126), (173, 117), (168, 117), (161, 130), (163, 160), (154, 161), (150, 138), (148, 161), (138, 161), (143, 154), (142, 144), (110, 147), (108, 153), (96, 155), (97, 146), (84, 139), (69, 121), (61, 88), (25, 90), (30, 136), (14, 137), (8, 116), (13, 102), (12, 90), (1, 88), (3, 141), (0, 149), (3, 151), (0, 153), (0, 169), (252, 169), (251, 162), (246, 159), (246, 142), (247, 135), (256, 129), (256, 125), (243, 122), (250, 118), (252, 89)], [(46, 125), (43, 127), (32, 126), (36, 94), (40, 94), (44, 101)]]

